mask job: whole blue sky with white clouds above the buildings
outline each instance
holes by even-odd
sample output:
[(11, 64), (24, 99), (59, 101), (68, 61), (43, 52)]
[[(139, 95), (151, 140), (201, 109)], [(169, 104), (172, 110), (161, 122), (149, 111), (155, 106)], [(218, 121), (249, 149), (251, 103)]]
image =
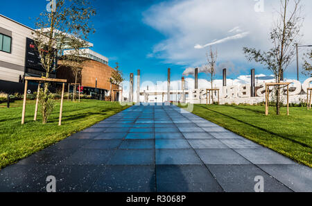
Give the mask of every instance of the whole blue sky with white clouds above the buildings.
[[(304, 2), (311, 3), (309, 0)], [(0, 13), (34, 27), (34, 19), (46, 8), (46, 3), (45, 0), (2, 1)], [(230, 67), (229, 78), (249, 75), (252, 67), (256, 68), (256, 74), (270, 75), (270, 71), (260, 65), (247, 62), (242, 53), (243, 46), (266, 49), (268, 45), (268, 22), (272, 20), (272, 8), (276, 4), (265, 0), (264, 10), (256, 12), (255, 3), (254, 0), (239, 3), (225, 0), (95, 0), (97, 15), (92, 20), (96, 33), (89, 36), (89, 42), (94, 43), (94, 51), (110, 59), (111, 67), (119, 62), (126, 80), (131, 72), (136, 74), (137, 69), (141, 69), (142, 81), (164, 81), (168, 67), (172, 79), (180, 80), (185, 69), (205, 64), (209, 47), (196, 49), (196, 45), (218, 40), (220, 43), (214, 44), (213, 48), (219, 51), (220, 69)], [(304, 24), (311, 26), (310, 19), (311, 15), (308, 15)], [(311, 44), (311, 30), (304, 28), (303, 32), (307, 36), (303, 43)], [(233, 40), (228, 38), (237, 35), (241, 36)], [(217, 78), (221, 78), (220, 74), (221, 71)], [(295, 77), (292, 65), (286, 78)], [(200, 78), (207, 78), (207, 75), (200, 74)], [(306, 77), (301, 76), (301, 79)]]

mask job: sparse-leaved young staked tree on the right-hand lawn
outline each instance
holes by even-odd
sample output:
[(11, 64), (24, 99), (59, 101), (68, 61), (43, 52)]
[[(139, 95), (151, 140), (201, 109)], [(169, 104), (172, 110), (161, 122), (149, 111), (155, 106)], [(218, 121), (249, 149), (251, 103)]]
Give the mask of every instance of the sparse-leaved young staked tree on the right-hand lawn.
[[(281, 9), (270, 32), (272, 49), (261, 51), (254, 48), (243, 48), (249, 61), (254, 60), (266, 65), (267, 69), (275, 74), (276, 83), (281, 83), (281, 80), (284, 79), (284, 72), (293, 61), (295, 56), (294, 43), (297, 42), (296, 39), (300, 35), (300, 28), (302, 27), (300, 0), (293, 0), (292, 2), (293, 8), (290, 10), (290, 0), (280, 0)], [(276, 111), (279, 114), (281, 86), (277, 86), (276, 90)]]

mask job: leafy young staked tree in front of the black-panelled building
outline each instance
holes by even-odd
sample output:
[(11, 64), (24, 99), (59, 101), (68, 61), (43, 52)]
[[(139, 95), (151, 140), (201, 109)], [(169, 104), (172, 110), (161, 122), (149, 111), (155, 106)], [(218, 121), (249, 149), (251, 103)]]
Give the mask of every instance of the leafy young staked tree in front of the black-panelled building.
[[(51, 71), (58, 69), (55, 64), (56, 56), (62, 55), (64, 49), (71, 49), (72, 39), (87, 39), (89, 33), (94, 32), (89, 21), (96, 12), (89, 0), (51, 0), (52, 8), (40, 13), (35, 23), (34, 40), (40, 55), (45, 78), (49, 78)], [(42, 107), (48, 107), (49, 83), (44, 83)], [(42, 110), (43, 116), (49, 116)], [(43, 123), (46, 123), (44, 118)]]

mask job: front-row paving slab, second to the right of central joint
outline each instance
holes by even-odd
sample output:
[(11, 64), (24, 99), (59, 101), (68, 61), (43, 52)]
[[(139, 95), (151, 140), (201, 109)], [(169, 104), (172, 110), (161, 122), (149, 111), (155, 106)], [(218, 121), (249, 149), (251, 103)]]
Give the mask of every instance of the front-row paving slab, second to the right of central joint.
[(291, 191), (253, 164), (207, 165), (207, 167), (221, 187), (227, 192), (254, 192), (254, 186), (257, 184), (254, 179), (259, 175), (263, 177), (265, 192)]

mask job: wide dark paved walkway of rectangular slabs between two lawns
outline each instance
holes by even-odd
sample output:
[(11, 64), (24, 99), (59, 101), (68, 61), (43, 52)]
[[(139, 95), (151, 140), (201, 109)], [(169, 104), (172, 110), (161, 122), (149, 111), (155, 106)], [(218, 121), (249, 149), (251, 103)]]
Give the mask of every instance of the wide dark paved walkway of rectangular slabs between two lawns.
[(312, 169), (175, 106), (134, 106), (0, 171), (0, 191), (312, 191)]

